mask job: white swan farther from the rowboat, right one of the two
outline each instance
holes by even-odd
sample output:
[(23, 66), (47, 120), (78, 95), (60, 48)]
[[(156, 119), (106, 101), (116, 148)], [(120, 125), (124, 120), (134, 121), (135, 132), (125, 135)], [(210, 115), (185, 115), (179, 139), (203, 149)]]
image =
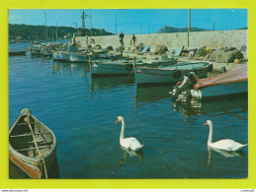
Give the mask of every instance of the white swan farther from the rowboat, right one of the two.
[(207, 120), (207, 122), (204, 125), (209, 125), (210, 127), (208, 146), (210, 146), (211, 148), (231, 152), (231, 151), (239, 151), (245, 146), (247, 146), (247, 144), (239, 144), (229, 139), (213, 142), (213, 122), (211, 120)]

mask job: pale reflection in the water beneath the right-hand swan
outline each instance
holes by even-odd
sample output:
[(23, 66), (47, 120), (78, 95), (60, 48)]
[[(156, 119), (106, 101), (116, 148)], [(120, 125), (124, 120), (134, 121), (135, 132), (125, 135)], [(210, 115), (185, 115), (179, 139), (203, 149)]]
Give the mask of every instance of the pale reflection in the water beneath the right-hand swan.
[(245, 158), (245, 154), (242, 151), (238, 151), (238, 152), (228, 152), (228, 151), (224, 151), (224, 150), (218, 150), (218, 149), (214, 149), (208, 146), (208, 163), (207, 165), (211, 165), (212, 163), (212, 156), (213, 153), (212, 151), (218, 153), (219, 155), (221, 155), (224, 158), (235, 158), (235, 157), (242, 157)]

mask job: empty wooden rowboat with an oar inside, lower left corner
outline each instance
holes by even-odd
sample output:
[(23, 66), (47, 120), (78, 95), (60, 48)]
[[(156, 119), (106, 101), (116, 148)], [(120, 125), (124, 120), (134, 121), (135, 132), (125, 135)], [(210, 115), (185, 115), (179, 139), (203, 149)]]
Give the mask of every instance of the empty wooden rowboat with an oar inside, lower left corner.
[(31, 178), (47, 178), (56, 144), (54, 133), (24, 108), (9, 131), (9, 159)]

